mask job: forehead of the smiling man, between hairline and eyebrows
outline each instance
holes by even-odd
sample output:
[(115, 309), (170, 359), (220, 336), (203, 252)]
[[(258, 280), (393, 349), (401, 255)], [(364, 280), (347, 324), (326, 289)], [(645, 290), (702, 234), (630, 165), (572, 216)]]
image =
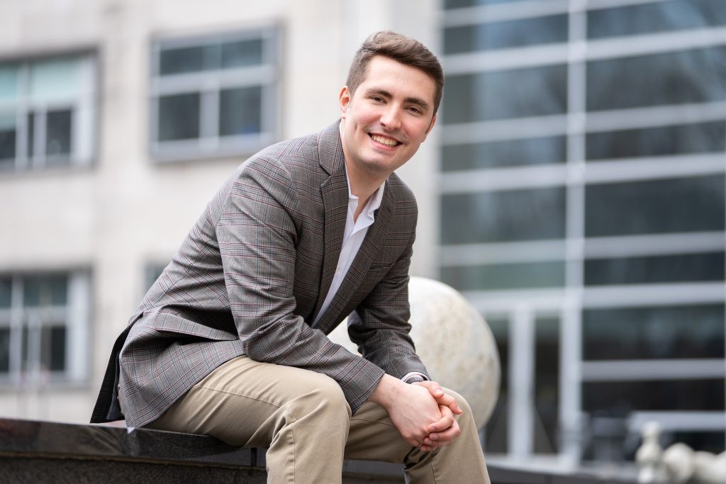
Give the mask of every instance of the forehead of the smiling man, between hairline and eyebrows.
[(417, 67), (401, 64), (382, 55), (368, 62), (360, 88), (395, 91), (405, 97), (423, 99), (431, 105), (436, 96), (436, 81), (430, 75)]

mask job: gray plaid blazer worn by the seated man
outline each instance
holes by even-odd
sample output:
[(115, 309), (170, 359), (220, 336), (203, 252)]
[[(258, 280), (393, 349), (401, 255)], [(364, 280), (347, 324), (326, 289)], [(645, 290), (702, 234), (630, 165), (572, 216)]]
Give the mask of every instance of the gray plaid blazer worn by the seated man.
[[(348, 210), (338, 124), (274, 144), (234, 171), (116, 340), (91, 422), (152, 422), (240, 355), (327, 374), (352, 411), (384, 372), (426, 373), (408, 323), (417, 208), (395, 174), (340, 290), (312, 324)], [(348, 315), (363, 357), (326, 336)]]

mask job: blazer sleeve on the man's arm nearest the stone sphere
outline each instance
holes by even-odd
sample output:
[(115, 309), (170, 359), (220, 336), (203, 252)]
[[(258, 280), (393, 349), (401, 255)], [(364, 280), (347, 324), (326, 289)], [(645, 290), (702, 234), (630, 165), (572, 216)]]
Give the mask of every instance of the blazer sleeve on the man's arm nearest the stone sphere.
[(396, 378), (409, 372), (428, 376), (409, 335), (408, 283), (414, 239), (415, 230), (383, 280), (348, 316), (348, 336), (363, 357)]

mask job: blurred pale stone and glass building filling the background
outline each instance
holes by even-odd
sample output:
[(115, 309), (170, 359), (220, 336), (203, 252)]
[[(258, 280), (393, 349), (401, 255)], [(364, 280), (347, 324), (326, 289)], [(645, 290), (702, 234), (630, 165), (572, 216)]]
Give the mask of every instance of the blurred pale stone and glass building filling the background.
[(401, 169), (412, 272), (502, 356), (490, 458), (725, 447), (726, 2), (0, 4), (0, 415), (86, 422), (113, 340), (229, 173), (338, 116), (375, 30), (447, 73)]

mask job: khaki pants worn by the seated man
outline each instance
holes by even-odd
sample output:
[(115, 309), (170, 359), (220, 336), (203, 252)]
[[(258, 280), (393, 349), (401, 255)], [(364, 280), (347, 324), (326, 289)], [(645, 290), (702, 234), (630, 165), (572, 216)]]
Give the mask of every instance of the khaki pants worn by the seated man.
[(233, 446), (266, 447), (268, 483), (340, 483), (343, 459), (397, 462), (407, 482), (489, 483), (468, 404), (451, 446), (422, 452), (406, 443), (382, 406), (351, 417), (330, 377), (240, 356), (219, 366), (147, 425), (213, 435)]

